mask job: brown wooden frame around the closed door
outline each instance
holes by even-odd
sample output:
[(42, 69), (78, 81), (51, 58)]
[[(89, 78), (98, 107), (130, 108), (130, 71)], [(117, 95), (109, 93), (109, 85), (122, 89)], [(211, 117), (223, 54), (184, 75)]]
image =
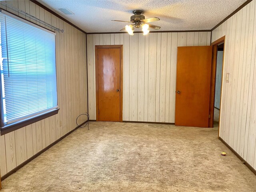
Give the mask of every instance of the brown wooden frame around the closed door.
[(123, 122), (123, 45), (96, 45), (95, 46), (95, 79), (96, 79), (96, 121), (99, 121), (99, 94), (98, 94), (98, 49), (120, 49), (120, 122)]

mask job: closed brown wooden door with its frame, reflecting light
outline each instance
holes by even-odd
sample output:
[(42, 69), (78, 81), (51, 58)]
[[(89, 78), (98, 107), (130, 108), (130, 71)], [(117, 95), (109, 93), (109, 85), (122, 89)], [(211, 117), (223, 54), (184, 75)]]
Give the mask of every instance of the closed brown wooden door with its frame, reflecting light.
[(96, 120), (122, 121), (121, 46), (96, 46)]

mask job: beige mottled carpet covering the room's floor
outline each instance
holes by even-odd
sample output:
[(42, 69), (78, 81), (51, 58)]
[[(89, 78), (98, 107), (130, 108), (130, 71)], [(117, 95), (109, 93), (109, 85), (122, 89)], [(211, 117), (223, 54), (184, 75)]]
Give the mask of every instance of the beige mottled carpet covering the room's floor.
[(6, 178), (2, 192), (256, 191), (256, 176), (217, 136), (217, 128), (91, 122)]

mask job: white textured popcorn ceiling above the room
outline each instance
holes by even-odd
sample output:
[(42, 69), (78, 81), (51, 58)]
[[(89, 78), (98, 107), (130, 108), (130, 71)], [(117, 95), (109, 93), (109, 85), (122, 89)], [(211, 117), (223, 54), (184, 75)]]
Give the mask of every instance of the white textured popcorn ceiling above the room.
[[(130, 20), (132, 10), (143, 10), (145, 18), (158, 17), (151, 24), (164, 30), (210, 30), (246, 0), (39, 0), (86, 32), (118, 32)], [(67, 8), (74, 15), (65, 15)], [(152, 29), (153, 30), (153, 29)]]

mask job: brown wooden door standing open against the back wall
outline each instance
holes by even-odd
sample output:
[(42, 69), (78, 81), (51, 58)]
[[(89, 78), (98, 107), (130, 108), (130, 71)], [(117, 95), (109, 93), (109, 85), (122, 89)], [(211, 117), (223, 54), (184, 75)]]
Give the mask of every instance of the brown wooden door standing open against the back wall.
[(208, 127), (212, 46), (178, 47), (175, 125)]

